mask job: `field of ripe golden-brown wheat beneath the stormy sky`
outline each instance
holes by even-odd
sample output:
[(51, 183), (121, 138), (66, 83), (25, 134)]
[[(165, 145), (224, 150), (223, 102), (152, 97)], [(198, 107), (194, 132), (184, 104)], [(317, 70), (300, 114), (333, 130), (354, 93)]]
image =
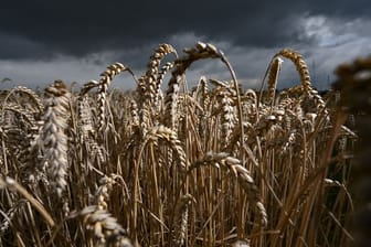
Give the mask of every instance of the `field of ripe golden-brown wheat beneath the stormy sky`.
[[(205, 58), (231, 80), (188, 88)], [(300, 84), (278, 92), (284, 60)], [(137, 89), (108, 90), (123, 72)], [(159, 45), (140, 77), (115, 63), (78, 92), (61, 80), (4, 92), (0, 245), (352, 245), (358, 137), (341, 97), (320, 96), (292, 50), (273, 56), (261, 90), (244, 89), (201, 42), (180, 57)]]

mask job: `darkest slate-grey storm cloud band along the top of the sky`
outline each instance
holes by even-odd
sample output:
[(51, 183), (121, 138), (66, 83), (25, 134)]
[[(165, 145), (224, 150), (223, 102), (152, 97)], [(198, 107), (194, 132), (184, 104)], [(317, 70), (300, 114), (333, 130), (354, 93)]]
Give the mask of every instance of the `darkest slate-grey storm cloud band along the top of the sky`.
[[(1, 58), (83, 56), (142, 47), (193, 32), (236, 45), (295, 43), (304, 14), (361, 17), (358, 1), (6, 1), (0, 14)], [(301, 42), (304, 42), (301, 40)]]

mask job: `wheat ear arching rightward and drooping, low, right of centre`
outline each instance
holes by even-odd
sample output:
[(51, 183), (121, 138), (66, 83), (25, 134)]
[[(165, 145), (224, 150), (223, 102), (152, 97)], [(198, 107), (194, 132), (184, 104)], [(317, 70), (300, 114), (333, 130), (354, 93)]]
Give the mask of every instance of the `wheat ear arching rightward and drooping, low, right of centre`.
[(248, 170), (242, 165), (241, 160), (230, 157), (230, 154), (226, 152), (208, 152), (202, 160), (197, 161), (189, 168), (188, 173), (190, 173), (193, 169), (200, 168), (202, 165), (212, 165), (218, 169), (226, 169), (229, 172), (231, 172), (234, 178), (239, 180), (240, 185), (246, 192), (250, 203), (256, 206), (261, 215), (262, 226), (267, 225), (267, 213), (264, 207), (258, 187), (251, 176)]

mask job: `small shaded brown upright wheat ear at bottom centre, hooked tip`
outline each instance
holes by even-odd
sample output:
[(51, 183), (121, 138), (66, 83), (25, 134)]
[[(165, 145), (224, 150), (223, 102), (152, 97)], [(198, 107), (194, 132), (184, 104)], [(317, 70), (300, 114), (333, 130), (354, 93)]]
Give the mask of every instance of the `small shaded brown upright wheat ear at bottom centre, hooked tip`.
[(184, 246), (186, 244), (188, 211), (192, 202), (195, 202), (194, 197), (190, 194), (186, 194), (182, 195), (177, 203), (174, 210), (172, 246)]

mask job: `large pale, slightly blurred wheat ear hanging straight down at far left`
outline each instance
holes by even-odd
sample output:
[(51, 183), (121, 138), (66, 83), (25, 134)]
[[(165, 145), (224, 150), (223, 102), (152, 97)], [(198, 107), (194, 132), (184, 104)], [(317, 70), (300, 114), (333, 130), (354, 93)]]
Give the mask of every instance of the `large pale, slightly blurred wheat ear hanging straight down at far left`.
[(44, 106), (44, 126), (39, 143), (49, 181), (61, 196), (67, 185), (68, 146), (65, 132), (70, 118), (70, 93), (62, 80), (56, 80), (45, 89)]

